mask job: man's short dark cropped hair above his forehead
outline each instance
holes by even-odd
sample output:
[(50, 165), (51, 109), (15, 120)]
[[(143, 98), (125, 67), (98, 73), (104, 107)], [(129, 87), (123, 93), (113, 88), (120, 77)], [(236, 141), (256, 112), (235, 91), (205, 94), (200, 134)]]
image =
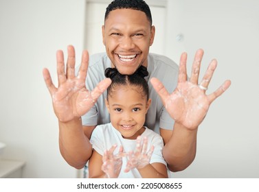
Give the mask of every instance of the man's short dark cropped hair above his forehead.
[(148, 4), (146, 4), (143, 0), (113, 0), (108, 7), (106, 8), (104, 21), (109, 16), (109, 13), (112, 10), (117, 9), (131, 9), (131, 10), (139, 10), (146, 14), (146, 17), (148, 21), (150, 22), (150, 25), (152, 25), (152, 16), (150, 12), (150, 8)]

